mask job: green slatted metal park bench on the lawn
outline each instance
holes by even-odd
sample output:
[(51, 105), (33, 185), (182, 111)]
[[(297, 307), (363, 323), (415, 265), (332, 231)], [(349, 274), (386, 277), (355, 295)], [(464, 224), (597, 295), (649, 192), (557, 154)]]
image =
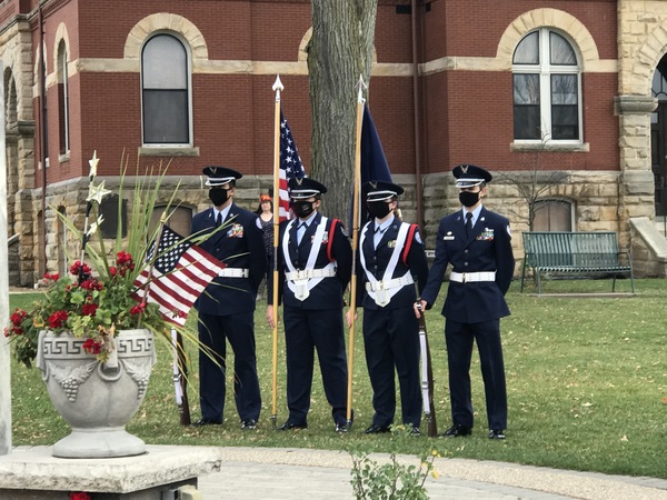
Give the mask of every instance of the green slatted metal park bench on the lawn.
[[(540, 272), (549, 274), (575, 274), (588, 277), (607, 274), (614, 277), (611, 291), (616, 291), (618, 273), (629, 273), (635, 293), (633, 257), (629, 251), (618, 250), (616, 232), (524, 232), (524, 270), (532, 268), (537, 292), (541, 293)], [(625, 256), (621, 259), (621, 256)]]

